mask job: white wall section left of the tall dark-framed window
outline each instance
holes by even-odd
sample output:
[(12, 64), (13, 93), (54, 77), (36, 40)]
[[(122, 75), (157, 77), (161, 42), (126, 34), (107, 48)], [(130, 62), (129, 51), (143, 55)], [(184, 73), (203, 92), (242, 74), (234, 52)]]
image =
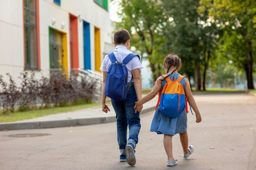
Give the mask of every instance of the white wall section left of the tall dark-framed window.
[(17, 79), (23, 70), (22, 1), (0, 0), (0, 74)]

